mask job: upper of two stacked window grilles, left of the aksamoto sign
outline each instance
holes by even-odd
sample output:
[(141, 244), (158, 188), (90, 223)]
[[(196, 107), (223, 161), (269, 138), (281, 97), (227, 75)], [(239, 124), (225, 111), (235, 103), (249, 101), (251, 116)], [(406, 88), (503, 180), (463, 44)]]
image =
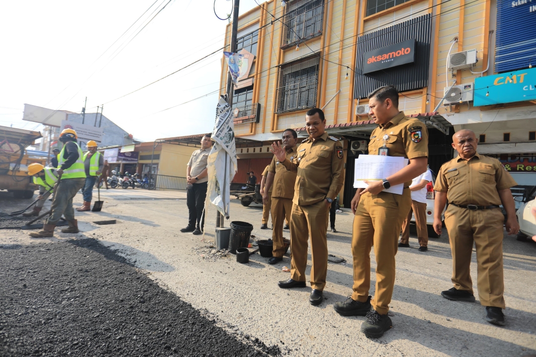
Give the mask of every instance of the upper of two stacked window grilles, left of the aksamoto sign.
[(295, 0), (287, 2), (282, 25), (281, 48), (322, 34), (324, 0)]

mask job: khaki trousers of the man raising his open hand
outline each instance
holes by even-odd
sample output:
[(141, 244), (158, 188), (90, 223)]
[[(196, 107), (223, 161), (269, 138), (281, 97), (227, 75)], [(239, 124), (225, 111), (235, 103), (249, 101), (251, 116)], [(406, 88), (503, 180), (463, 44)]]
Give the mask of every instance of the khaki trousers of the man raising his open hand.
[(327, 215), (324, 200), (307, 206), (292, 205), (291, 215), (291, 278), (306, 280), (308, 240), (311, 237), (311, 287), (324, 290), (327, 274)]

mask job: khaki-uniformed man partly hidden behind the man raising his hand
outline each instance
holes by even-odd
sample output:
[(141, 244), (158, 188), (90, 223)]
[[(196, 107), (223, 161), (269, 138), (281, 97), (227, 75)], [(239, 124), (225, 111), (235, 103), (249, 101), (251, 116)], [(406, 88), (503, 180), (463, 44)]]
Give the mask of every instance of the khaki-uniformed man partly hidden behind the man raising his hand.
[[(287, 129), (283, 132), (282, 142), (286, 151), (286, 159), (293, 161), (296, 157), (296, 141), (297, 133), (292, 129)], [(276, 264), (283, 260), (285, 254), (285, 246), (283, 244), (283, 222), (285, 218), (287, 222), (291, 221), (292, 198), (294, 197), (294, 184), (296, 183), (296, 170), (289, 171), (282, 165), (276, 156), (272, 158), (272, 163), (268, 169), (268, 177), (266, 178), (266, 187), (269, 188), (271, 194), (263, 195), (263, 203), (272, 205), (272, 241), (273, 250), (272, 257), (268, 260), (268, 264)], [(272, 186), (273, 183), (273, 186)], [(273, 191), (272, 191), (273, 187)]]

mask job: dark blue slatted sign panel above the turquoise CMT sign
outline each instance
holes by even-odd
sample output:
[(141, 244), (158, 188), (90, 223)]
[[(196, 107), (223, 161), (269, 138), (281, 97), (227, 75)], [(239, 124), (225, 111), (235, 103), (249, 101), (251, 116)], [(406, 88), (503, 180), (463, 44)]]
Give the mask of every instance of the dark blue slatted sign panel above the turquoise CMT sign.
[(536, 62), (536, 1), (497, 0), (495, 72)]

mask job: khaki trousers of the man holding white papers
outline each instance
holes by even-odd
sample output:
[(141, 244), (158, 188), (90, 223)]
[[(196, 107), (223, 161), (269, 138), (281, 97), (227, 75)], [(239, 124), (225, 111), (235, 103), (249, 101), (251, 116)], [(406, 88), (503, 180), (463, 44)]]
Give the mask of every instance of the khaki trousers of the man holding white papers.
[(381, 315), (389, 311), (393, 294), (398, 237), (411, 208), (410, 189), (401, 195), (380, 192), (361, 196), (352, 233), (354, 286), (352, 299), (365, 302), (370, 288), (370, 248), (376, 256), (376, 293), (370, 302)]

